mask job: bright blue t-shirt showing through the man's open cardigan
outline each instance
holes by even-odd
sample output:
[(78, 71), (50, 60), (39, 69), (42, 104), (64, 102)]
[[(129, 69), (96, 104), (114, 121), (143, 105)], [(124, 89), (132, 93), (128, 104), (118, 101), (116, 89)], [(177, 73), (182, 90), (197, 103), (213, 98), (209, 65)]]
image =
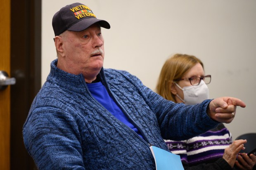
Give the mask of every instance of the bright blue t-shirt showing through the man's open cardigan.
[(109, 96), (105, 86), (101, 82), (87, 83), (92, 96), (102, 104), (114, 117), (133, 129), (142, 139), (140, 131), (129, 121), (116, 102)]

